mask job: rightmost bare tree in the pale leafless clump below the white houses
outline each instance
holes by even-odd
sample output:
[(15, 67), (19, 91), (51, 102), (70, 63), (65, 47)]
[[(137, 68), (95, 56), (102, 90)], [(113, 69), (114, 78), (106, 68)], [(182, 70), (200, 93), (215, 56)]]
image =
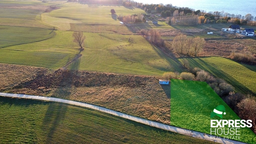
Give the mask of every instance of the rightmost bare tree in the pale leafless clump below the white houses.
[(193, 50), (193, 55), (196, 57), (197, 54), (204, 48), (205, 46), (205, 39), (196, 37), (193, 39), (191, 44), (191, 49)]

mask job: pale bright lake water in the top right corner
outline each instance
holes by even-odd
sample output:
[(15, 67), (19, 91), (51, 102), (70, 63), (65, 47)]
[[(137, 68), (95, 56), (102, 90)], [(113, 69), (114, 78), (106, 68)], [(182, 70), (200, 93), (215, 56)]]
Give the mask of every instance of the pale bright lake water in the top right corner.
[(141, 3), (163, 3), (178, 7), (189, 7), (195, 10), (206, 10), (206, 12), (224, 11), (230, 14), (252, 14), (256, 16), (256, 0), (137, 0)]

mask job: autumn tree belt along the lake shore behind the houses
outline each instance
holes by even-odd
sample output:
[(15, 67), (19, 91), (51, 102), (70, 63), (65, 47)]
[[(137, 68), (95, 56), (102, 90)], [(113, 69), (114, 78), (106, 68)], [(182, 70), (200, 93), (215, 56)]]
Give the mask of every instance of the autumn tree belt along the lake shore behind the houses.
[[(251, 14), (235, 15), (224, 11), (205, 12), (188, 7), (176, 7), (172, 4), (143, 4), (142, 9), (147, 13), (161, 14), (167, 22), (173, 25), (196, 25), (209, 23), (232, 23), (238, 25), (256, 26), (256, 16)], [(197, 17), (197, 22), (194, 19)], [(193, 21), (193, 22), (191, 22)]]

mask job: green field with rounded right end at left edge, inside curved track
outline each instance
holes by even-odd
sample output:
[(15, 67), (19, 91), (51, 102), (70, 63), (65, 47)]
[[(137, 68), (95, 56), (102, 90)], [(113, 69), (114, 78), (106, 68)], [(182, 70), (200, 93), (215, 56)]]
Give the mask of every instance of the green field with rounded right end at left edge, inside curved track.
[(53, 37), (55, 31), (42, 28), (0, 26), (0, 48)]

